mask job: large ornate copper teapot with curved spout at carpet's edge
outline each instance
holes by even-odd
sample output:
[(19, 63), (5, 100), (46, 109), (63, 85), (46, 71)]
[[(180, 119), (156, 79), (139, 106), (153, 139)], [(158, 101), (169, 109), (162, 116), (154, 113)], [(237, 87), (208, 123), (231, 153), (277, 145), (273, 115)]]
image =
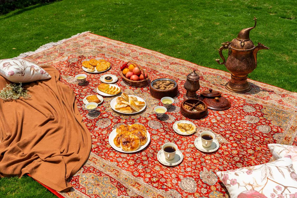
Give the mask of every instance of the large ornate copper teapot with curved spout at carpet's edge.
[[(256, 17), (254, 17), (254, 20), (255, 25), (253, 27), (241, 30), (236, 39), (222, 43), (222, 47), (219, 49), (219, 55), (223, 62), (220, 62), (219, 59), (216, 61), (218, 64), (224, 64), (231, 73), (231, 80), (226, 84), (229, 91), (244, 93), (251, 89), (251, 85), (247, 82), (247, 75), (257, 67), (257, 52), (269, 49), (261, 43), (255, 46), (252, 40), (249, 39), (249, 31), (255, 28), (257, 24)], [(222, 54), (224, 49), (229, 50), (227, 61), (225, 61)]]

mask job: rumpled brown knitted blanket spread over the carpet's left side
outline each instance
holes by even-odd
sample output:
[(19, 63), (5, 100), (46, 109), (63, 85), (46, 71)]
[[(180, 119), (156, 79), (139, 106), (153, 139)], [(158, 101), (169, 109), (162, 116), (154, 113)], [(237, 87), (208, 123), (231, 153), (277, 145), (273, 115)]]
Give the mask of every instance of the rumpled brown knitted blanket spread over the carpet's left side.
[[(0, 99), (0, 177), (30, 174), (56, 191), (68, 191), (71, 177), (88, 159), (91, 135), (78, 112), (75, 94), (51, 79), (24, 84), (31, 98)], [(9, 83), (0, 76), (0, 89)]]

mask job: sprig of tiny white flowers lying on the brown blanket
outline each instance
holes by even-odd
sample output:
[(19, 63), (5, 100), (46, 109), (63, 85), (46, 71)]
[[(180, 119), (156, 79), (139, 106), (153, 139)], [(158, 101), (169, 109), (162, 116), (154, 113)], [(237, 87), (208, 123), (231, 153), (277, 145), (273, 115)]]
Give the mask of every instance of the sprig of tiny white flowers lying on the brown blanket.
[(4, 87), (0, 91), (0, 98), (4, 101), (12, 101), (12, 100), (17, 100), (19, 98), (29, 99), (30, 97), (31, 95), (28, 94), (28, 90), (25, 90), (22, 87), (22, 83), (7, 84), (6, 87)]

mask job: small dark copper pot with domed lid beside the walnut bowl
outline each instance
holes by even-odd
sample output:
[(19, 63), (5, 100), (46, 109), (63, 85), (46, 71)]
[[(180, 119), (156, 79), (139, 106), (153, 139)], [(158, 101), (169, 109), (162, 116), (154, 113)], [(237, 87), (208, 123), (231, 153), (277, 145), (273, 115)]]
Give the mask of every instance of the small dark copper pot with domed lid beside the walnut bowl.
[(197, 98), (196, 91), (198, 91), (200, 88), (199, 79), (200, 77), (198, 74), (196, 74), (195, 69), (192, 73), (187, 75), (187, 80), (184, 84), (184, 88), (187, 90), (187, 93), (184, 94), (185, 99)]

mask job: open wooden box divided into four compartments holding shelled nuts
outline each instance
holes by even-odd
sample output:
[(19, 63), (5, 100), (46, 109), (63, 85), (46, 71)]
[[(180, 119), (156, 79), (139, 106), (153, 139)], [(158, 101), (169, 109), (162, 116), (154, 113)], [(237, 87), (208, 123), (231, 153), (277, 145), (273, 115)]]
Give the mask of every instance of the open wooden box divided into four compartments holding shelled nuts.
[(198, 99), (186, 99), (181, 102), (181, 114), (190, 119), (200, 119), (207, 114), (207, 105)]

